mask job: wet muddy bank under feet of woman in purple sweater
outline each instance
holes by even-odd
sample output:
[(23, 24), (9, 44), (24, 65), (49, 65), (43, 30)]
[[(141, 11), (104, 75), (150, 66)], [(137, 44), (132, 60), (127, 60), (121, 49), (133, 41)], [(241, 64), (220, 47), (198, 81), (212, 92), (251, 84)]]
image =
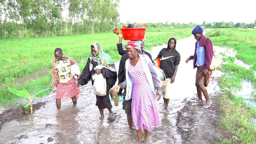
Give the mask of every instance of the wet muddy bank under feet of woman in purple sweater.
[[(212, 77), (212, 82), (218, 82), (218, 77)], [(217, 97), (219, 92), (210, 93), (211, 107), (204, 109), (203, 105), (191, 105), (198, 99), (194, 98), (186, 103), (179, 111), (177, 127), (183, 144), (214, 144), (219, 138), (232, 138), (230, 133), (218, 127), (219, 104)], [(203, 98), (204, 99), (204, 98)]]

